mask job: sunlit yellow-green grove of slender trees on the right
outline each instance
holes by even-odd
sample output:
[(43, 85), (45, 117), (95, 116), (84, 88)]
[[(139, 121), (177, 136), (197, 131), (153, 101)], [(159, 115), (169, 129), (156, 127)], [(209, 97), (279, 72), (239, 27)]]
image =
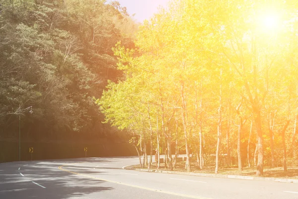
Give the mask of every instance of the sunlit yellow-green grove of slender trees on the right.
[(96, 101), (106, 122), (133, 133), (143, 167), (155, 150), (170, 170), (181, 151), (188, 172), (190, 159), (219, 173), (235, 157), (257, 176), (297, 166), (297, 10), (296, 0), (172, 0), (135, 47), (113, 48), (124, 78)]

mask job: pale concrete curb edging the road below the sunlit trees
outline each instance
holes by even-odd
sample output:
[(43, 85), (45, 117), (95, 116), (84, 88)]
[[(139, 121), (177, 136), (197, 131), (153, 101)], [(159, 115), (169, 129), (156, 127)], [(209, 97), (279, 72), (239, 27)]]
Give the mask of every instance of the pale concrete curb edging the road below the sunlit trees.
[[(129, 167), (129, 166), (126, 166), (126, 167)], [(296, 180), (296, 179), (265, 178), (265, 177), (254, 177), (254, 176), (235, 176), (235, 175), (223, 175), (223, 174), (204, 174), (204, 173), (192, 173), (192, 172), (191, 173), (188, 173), (188, 172), (162, 171), (162, 170), (151, 170), (151, 169), (134, 169), (134, 170), (136, 170), (136, 171), (142, 171), (142, 172), (154, 172), (154, 173), (165, 173), (165, 174), (180, 174), (180, 175), (200, 176), (200, 177), (229, 178), (229, 179), (257, 180), (257, 181), (271, 181), (271, 182), (279, 182), (279, 183), (298, 183), (298, 180)]]

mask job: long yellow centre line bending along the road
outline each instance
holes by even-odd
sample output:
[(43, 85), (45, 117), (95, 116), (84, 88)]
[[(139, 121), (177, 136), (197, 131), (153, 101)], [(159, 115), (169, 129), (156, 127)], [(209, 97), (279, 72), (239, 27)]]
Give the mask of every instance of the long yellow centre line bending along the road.
[[(74, 164), (77, 164), (77, 163), (74, 163)], [(68, 165), (71, 165), (71, 164), (68, 164)], [(66, 170), (66, 169), (63, 168), (63, 167), (68, 166), (68, 165), (61, 165), (60, 167), (58, 167), (58, 169), (60, 169), (61, 171), (65, 171), (65, 172), (74, 174), (74, 175), (84, 176), (84, 177), (87, 177), (87, 178), (92, 178), (92, 179), (105, 181), (105, 182), (109, 182), (109, 183), (114, 183), (114, 184), (120, 184), (120, 185), (124, 185), (124, 186), (128, 186), (128, 187), (134, 187), (134, 188), (139, 188), (139, 189), (143, 189), (143, 190), (149, 190), (149, 191), (152, 191), (152, 192), (158, 192), (158, 193), (169, 194), (169, 195), (174, 195), (174, 196), (181, 196), (181, 197), (192, 198), (192, 199), (210, 199), (210, 198), (203, 198), (203, 197), (198, 197), (198, 196), (191, 196), (191, 195), (177, 194), (177, 193), (167, 192), (167, 191), (162, 191), (162, 190), (156, 190), (156, 189), (152, 189), (152, 188), (141, 187), (141, 186), (137, 186), (137, 185), (131, 185), (131, 184), (126, 184), (126, 183), (106, 180), (106, 179), (102, 179), (102, 178), (97, 178), (97, 177), (89, 176), (89, 175), (85, 175), (85, 174), (80, 174), (80, 173), (69, 171), (69, 170)]]

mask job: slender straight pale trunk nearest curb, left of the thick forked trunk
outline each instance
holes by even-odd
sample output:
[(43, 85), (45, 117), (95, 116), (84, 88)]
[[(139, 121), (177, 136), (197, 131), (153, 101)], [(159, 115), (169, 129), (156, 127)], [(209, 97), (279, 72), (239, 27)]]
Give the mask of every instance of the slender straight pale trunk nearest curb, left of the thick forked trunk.
[(221, 137), (222, 137), (222, 72), (220, 76), (220, 105), (218, 109), (219, 120), (218, 120), (218, 128), (217, 128), (217, 145), (216, 145), (216, 160), (215, 160), (215, 173), (219, 173), (219, 155), (220, 155), (220, 145), (221, 145)]

